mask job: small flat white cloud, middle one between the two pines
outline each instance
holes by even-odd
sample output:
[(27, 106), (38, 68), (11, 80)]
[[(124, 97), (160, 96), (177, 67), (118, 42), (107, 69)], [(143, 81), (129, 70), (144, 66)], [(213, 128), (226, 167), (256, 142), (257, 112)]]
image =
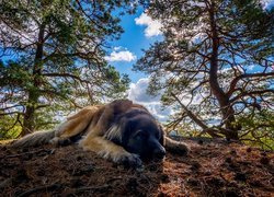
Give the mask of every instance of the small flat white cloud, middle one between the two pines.
[(137, 57), (128, 51), (128, 50), (121, 50), (121, 51), (116, 51), (118, 50), (119, 47), (115, 47), (114, 51), (111, 53), (110, 56), (105, 56), (105, 60), (107, 61), (134, 61), (137, 59)]

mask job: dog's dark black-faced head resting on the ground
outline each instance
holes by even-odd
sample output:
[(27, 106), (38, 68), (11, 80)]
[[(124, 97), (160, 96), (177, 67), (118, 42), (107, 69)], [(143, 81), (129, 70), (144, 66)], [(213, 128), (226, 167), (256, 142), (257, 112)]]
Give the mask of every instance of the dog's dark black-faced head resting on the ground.
[(161, 126), (145, 108), (133, 107), (119, 115), (106, 138), (141, 159), (163, 159), (164, 134)]

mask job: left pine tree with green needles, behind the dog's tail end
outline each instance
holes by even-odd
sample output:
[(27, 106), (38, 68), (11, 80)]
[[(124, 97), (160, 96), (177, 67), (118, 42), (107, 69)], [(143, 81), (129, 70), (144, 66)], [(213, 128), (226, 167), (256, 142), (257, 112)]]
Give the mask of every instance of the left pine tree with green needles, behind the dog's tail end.
[(24, 136), (38, 127), (38, 111), (123, 96), (129, 79), (104, 56), (107, 40), (123, 33), (118, 13), (112, 13), (122, 7), (132, 11), (129, 3), (0, 1), (1, 118), (20, 123)]

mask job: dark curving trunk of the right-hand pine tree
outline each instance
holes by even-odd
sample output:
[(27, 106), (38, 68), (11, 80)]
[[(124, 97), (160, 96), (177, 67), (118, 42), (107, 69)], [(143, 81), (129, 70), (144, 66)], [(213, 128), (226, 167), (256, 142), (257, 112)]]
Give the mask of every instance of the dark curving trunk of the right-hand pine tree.
[(229, 96), (224, 92), (218, 82), (218, 48), (219, 48), (219, 38), (215, 19), (215, 4), (214, 2), (210, 4), (209, 11), (209, 20), (210, 20), (210, 28), (212, 28), (212, 43), (213, 50), (210, 56), (210, 69), (209, 69), (209, 85), (213, 94), (216, 96), (220, 112), (222, 115), (222, 119), (225, 121), (225, 127), (228, 130), (226, 132), (227, 139), (238, 140), (238, 128), (233, 126), (235, 123), (235, 109), (232, 108)]

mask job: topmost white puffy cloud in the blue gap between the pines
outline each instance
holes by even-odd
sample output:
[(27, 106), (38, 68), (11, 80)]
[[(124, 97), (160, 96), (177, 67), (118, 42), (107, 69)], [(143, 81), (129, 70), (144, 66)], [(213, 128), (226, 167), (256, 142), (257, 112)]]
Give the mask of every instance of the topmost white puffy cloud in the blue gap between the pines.
[(158, 35), (162, 34), (162, 32), (161, 32), (162, 24), (157, 20), (152, 20), (146, 13), (141, 13), (141, 15), (139, 18), (136, 18), (135, 23), (137, 25), (146, 25), (147, 26), (145, 30), (145, 35), (147, 37), (158, 36)]

